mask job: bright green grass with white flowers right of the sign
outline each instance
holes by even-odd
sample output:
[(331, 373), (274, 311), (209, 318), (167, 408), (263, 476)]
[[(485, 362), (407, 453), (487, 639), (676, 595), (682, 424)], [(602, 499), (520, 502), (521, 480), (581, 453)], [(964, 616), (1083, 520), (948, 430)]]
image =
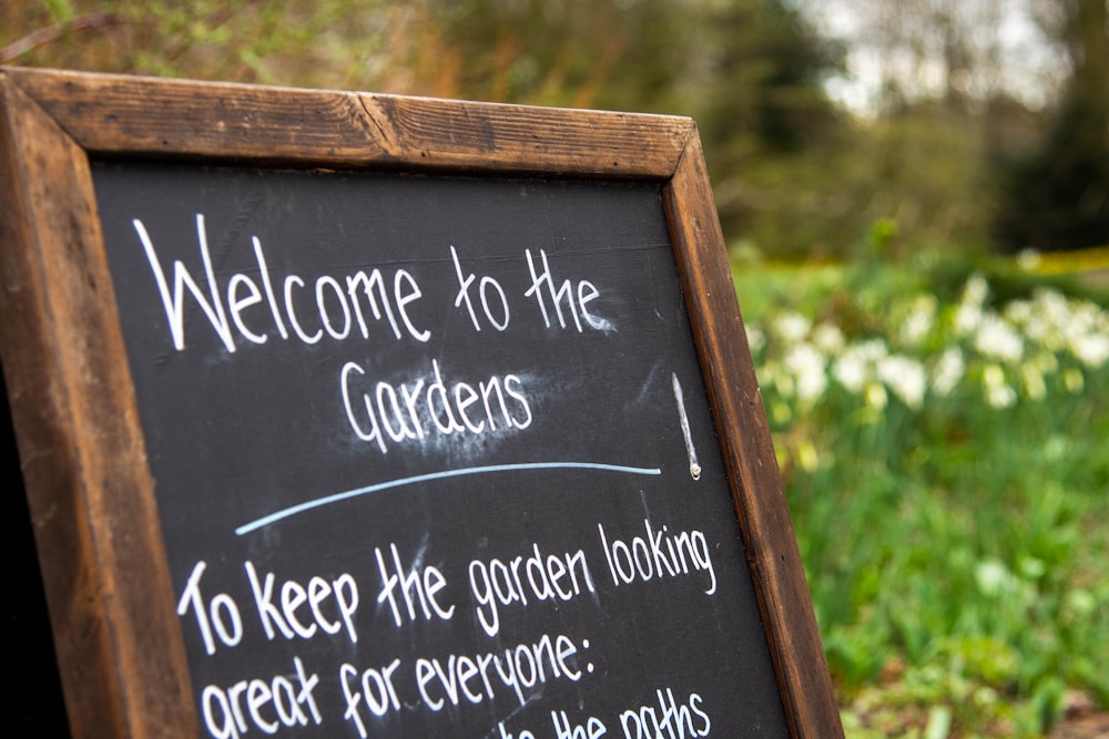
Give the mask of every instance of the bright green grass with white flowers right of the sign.
[(1109, 312), (997, 264), (735, 269), (852, 737), (1109, 707)]

